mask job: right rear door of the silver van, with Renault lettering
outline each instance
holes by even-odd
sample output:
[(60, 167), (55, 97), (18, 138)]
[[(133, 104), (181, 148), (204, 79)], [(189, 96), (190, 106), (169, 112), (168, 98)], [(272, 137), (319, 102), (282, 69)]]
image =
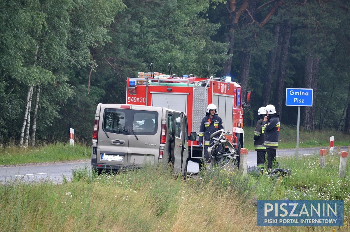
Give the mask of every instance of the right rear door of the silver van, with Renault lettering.
[(154, 108), (145, 110), (144, 106), (132, 106), (132, 115), (128, 118), (132, 124), (127, 165), (158, 164), (161, 116), (162, 108), (158, 112)]

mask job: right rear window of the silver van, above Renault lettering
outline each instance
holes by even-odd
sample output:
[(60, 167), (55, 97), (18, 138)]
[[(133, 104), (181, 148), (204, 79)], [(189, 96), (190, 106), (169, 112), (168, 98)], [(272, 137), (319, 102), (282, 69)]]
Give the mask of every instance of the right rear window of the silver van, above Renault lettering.
[(155, 135), (158, 129), (158, 112), (138, 111), (133, 117), (133, 130), (137, 135)]

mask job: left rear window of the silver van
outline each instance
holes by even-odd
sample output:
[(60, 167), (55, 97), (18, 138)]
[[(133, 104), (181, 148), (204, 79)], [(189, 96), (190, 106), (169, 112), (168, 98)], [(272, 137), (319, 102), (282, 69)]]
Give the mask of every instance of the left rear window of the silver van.
[(125, 111), (119, 109), (105, 109), (103, 127), (106, 132), (128, 135)]

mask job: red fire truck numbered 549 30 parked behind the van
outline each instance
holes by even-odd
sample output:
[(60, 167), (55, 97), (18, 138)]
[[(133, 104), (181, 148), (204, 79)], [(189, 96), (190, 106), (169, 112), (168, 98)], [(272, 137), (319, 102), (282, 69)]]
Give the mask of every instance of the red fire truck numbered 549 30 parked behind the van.
[[(246, 102), (241, 97), (241, 86), (226, 78), (199, 78), (194, 74), (176, 77), (159, 72), (139, 72), (138, 78), (127, 78), (126, 104), (166, 107), (186, 113), (188, 131), (199, 132), (208, 104), (217, 106), (228, 138), (237, 154), (244, 145), (243, 110), (251, 104), (251, 92), (246, 93)], [(189, 141), (189, 160), (200, 163), (202, 148), (198, 141)]]

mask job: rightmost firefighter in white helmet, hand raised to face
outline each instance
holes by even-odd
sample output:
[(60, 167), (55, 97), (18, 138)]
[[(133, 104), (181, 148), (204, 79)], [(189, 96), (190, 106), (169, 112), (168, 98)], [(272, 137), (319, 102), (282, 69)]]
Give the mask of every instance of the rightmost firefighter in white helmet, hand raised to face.
[[(267, 153), (267, 168), (272, 168), (272, 162), (276, 161), (276, 148), (278, 147), (278, 136), (280, 133), (280, 119), (273, 105), (265, 107), (266, 115), (264, 117), (265, 142)], [(276, 161), (277, 167), (278, 162)]]

